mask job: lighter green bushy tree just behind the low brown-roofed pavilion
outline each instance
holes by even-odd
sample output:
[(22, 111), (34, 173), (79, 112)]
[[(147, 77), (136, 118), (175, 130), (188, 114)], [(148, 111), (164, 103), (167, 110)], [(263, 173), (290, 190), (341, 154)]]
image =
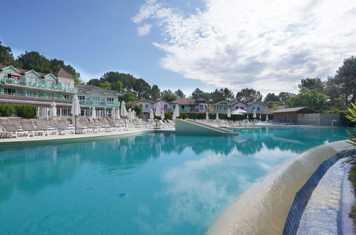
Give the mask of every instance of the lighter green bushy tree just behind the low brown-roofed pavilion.
[(287, 105), (289, 108), (308, 106), (323, 111), (328, 106), (328, 97), (318, 90), (303, 88), (298, 95), (294, 95), (287, 101)]

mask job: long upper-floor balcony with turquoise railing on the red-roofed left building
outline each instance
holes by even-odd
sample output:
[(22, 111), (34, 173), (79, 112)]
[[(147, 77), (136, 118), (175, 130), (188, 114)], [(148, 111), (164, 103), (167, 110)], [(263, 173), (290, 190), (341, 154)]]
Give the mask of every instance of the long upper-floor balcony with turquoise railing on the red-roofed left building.
[(61, 83), (48, 84), (45, 80), (40, 83), (30, 83), (26, 78), (0, 78), (0, 83), (4, 85), (11, 85), (21, 88), (31, 88), (33, 90), (50, 90), (50, 91), (64, 91), (68, 93), (78, 93), (77, 88), (66, 88)]

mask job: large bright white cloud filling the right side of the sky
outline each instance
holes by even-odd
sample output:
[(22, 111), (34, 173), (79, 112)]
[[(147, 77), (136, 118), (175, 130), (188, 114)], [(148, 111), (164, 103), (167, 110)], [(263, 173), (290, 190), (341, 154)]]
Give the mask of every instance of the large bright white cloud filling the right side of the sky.
[(132, 19), (162, 30), (164, 43), (154, 42), (165, 52), (162, 68), (233, 90), (295, 91), (300, 78), (335, 74), (356, 49), (353, 0), (204, 4), (204, 10), (186, 14), (150, 0)]

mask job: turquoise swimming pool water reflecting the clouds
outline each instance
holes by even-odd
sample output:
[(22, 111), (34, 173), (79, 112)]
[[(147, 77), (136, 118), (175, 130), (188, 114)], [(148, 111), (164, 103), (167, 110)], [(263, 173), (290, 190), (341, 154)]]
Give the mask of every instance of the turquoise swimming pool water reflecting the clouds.
[(0, 150), (0, 234), (204, 234), (253, 182), (343, 128), (151, 133)]

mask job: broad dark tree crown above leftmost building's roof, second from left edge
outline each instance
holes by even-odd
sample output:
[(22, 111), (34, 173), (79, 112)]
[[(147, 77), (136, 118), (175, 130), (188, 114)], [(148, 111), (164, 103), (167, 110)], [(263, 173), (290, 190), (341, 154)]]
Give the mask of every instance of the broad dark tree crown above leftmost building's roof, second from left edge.
[(41, 73), (51, 73), (51, 61), (48, 58), (42, 56), (37, 51), (26, 51), (21, 54), (17, 60), (19, 63), (22, 63), (23, 69), (41, 72)]

